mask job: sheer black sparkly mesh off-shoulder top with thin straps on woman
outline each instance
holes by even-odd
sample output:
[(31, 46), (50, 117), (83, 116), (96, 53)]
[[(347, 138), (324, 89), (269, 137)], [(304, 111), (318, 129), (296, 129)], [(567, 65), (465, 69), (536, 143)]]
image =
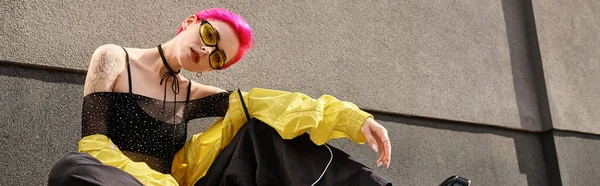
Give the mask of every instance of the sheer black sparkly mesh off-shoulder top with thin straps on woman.
[[(127, 65), (131, 77), (129, 58)], [(129, 93), (95, 92), (83, 98), (82, 136), (104, 134), (131, 160), (162, 173), (171, 173), (175, 153), (187, 138), (187, 122), (223, 117), (229, 106), (231, 92), (189, 100), (190, 88), (187, 100), (163, 106), (163, 100), (133, 94), (129, 81)]]

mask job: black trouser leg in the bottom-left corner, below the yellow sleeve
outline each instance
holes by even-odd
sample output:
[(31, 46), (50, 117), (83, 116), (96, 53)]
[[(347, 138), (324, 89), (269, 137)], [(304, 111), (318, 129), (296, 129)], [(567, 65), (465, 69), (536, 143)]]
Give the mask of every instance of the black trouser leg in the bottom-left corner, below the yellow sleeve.
[(50, 170), (48, 186), (54, 185), (143, 185), (129, 173), (104, 165), (86, 153), (71, 152)]

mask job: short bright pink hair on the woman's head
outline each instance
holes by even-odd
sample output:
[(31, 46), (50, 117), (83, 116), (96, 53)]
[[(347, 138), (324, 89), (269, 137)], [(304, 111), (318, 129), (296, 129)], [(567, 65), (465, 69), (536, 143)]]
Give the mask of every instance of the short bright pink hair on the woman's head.
[[(250, 25), (242, 18), (240, 15), (230, 12), (224, 8), (211, 8), (202, 10), (200, 12), (196, 12), (197, 21), (212, 19), (217, 21), (223, 21), (227, 23), (229, 26), (233, 28), (233, 31), (236, 32), (239, 42), (240, 48), (238, 53), (231, 59), (231, 61), (223, 67), (223, 69), (228, 68), (229, 66), (238, 62), (246, 51), (250, 50), (254, 45), (254, 36), (252, 36), (252, 29)], [(183, 31), (182, 27), (179, 27), (177, 30), (177, 34)]]

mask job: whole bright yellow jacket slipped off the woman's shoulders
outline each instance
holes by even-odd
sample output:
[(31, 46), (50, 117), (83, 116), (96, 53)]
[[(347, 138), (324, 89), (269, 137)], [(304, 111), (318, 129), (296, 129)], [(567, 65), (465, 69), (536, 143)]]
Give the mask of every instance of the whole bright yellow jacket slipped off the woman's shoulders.
[[(254, 88), (243, 92), (251, 117), (273, 127), (284, 139), (292, 139), (310, 131), (310, 139), (322, 145), (333, 138), (348, 137), (362, 144), (362, 124), (371, 114), (350, 102), (323, 95), (312, 99), (301, 93)], [(229, 96), (229, 109), (203, 133), (196, 134), (175, 155), (171, 174), (152, 170), (144, 162), (127, 158), (108, 137), (90, 135), (79, 141), (79, 152), (85, 152), (102, 163), (128, 172), (145, 185), (193, 185), (202, 178), (219, 152), (229, 144), (247, 121), (237, 92)]]

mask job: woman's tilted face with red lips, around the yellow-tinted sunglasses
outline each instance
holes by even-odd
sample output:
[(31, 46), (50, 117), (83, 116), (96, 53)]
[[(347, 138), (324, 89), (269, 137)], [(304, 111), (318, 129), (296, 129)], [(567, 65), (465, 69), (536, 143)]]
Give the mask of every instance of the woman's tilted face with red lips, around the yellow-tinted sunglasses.
[[(206, 46), (200, 36), (201, 21), (196, 21), (191, 16), (183, 23), (183, 31), (177, 35), (176, 55), (181, 68), (191, 72), (212, 71), (209, 55), (215, 50), (220, 50), (225, 56), (225, 63), (230, 62), (237, 54), (240, 43), (233, 28), (227, 23), (216, 20), (207, 20), (218, 35), (217, 47)], [(209, 25), (205, 25), (209, 26)], [(212, 36), (216, 37), (216, 36)], [(206, 37), (205, 37), (206, 38)], [(208, 41), (207, 41), (208, 42)], [(210, 44), (210, 43), (209, 43)], [(215, 64), (213, 56), (213, 64)], [(213, 65), (214, 66), (214, 65)]]

